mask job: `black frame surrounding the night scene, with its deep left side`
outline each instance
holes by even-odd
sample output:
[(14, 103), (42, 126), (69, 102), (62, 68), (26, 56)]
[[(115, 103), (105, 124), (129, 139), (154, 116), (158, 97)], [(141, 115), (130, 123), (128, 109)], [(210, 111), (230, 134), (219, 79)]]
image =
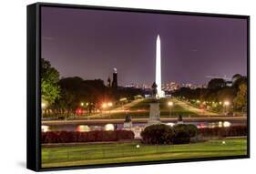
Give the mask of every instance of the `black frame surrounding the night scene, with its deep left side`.
[[(200, 159), (169, 159), (161, 161), (148, 162), (129, 162), (119, 164), (103, 164), (89, 166), (73, 166), (73, 167), (57, 167), (57, 168), (41, 168), (41, 93), (40, 93), (40, 56), (41, 56), (41, 7), (51, 6), (60, 8), (77, 8), (77, 9), (94, 9), (94, 10), (110, 10), (120, 12), (139, 12), (149, 14), (166, 14), (166, 15), (196, 15), (210, 17), (228, 17), (247, 20), (247, 76), (248, 76), (248, 116), (247, 116), (247, 155), (216, 157), (216, 158), (200, 158)], [(27, 5), (27, 139), (26, 139), (26, 168), (35, 171), (60, 170), (60, 169), (91, 169), (105, 167), (120, 166), (136, 166), (150, 165), (173, 162), (191, 162), (206, 161), (220, 159), (247, 159), (250, 158), (250, 16), (249, 15), (225, 15), (225, 14), (207, 14), (194, 12), (178, 12), (166, 10), (137, 9), (137, 8), (121, 8), (108, 6), (92, 6), (92, 5), (66, 5), (66, 4), (50, 4), (36, 3)]]

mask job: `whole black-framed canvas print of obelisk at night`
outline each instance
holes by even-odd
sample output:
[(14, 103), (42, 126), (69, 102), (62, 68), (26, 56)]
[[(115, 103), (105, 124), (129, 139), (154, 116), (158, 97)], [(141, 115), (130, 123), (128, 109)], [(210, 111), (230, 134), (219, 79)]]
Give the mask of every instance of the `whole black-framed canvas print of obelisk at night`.
[(250, 157), (250, 17), (27, 6), (27, 168)]

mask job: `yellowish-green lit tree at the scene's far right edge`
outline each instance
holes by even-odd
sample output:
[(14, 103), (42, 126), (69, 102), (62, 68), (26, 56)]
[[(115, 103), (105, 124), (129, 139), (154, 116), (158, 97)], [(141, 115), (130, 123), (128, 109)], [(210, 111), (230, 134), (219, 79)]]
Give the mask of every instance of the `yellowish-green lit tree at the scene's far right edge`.
[(237, 109), (247, 108), (247, 85), (241, 84), (237, 96), (234, 98), (234, 105)]

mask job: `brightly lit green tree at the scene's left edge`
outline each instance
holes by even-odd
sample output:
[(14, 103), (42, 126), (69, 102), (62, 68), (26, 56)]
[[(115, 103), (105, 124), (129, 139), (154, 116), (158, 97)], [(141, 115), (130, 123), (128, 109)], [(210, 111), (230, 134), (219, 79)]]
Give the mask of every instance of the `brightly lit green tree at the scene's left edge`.
[(41, 67), (42, 101), (51, 105), (60, 95), (60, 88), (58, 86), (59, 73), (44, 58), (41, 59)]

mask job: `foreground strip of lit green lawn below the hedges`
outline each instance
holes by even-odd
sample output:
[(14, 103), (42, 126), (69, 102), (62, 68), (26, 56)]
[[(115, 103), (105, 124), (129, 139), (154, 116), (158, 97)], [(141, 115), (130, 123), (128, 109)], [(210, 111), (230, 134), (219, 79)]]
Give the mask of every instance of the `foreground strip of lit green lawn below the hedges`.
[[(225, 144), (222, 144), (222, 141), (225, 141)], [(137, 145), (140, 147), (136, 148)], [(133, 141), (56, 148), (43, 147), (42, 167), (246, 155), (246, 145), (246, 138), (234, 138), (186, 145), (153, 146)]]

